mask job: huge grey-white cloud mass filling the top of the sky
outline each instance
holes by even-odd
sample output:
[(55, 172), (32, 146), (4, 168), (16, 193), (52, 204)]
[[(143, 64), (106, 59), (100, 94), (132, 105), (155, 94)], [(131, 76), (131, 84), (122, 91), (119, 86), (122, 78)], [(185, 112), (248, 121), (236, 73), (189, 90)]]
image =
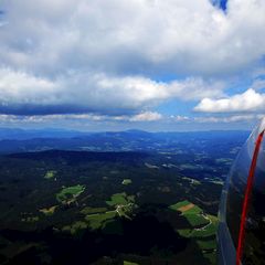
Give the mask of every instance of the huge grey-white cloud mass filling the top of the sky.
[[(0, 60), (42, 74), (239, 72), (265, 53), (265, 2), (4, 0)], [(23, 21), (23, 23), (21, 23)]]

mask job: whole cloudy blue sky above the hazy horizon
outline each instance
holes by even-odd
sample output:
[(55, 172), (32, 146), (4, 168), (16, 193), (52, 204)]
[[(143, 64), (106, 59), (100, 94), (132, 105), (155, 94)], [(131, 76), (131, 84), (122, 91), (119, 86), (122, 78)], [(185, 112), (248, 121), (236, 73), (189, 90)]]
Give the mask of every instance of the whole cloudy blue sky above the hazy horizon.
[(1, 0), (0, 127), (251, 129), (264, 0)]

